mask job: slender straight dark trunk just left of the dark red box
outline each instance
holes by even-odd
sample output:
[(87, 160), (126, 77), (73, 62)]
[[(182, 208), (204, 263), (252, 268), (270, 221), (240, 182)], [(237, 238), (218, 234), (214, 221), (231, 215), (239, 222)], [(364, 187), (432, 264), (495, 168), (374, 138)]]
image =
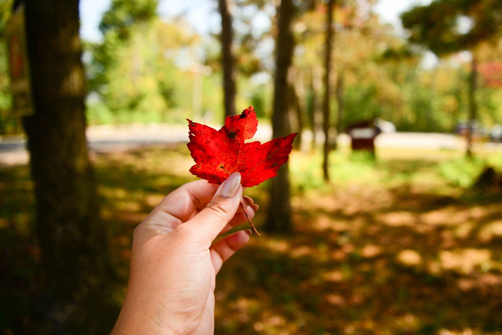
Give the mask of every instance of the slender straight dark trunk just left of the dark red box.
[(328, 1), (327, 15), (326, 15), (326, 49), (324, 53), (324, 99), (322, 104), (322, 129), (324, 132), (324, 156), (322, 161), (322, 172), (324, 180), (329, 181), (328, 172), (328, 155), (329, 155), (329, 114), (331, 111), (330, 106), (330, 74), (331, 74), (331, 49), (333, 42), (333, 5), (335, 0)]

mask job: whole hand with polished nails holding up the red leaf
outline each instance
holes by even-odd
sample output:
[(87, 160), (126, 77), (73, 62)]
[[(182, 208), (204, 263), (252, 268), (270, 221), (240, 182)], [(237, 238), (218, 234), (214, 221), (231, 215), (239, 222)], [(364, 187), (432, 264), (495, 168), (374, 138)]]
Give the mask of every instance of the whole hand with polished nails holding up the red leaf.
[(126, 299), (112, 334), (208, 334), (214, 330), (215, 276), (250, 230), (221, 233), (253, 218), (240, 174), (219, 187), (199, 180), (176, 189), (135, 229)]

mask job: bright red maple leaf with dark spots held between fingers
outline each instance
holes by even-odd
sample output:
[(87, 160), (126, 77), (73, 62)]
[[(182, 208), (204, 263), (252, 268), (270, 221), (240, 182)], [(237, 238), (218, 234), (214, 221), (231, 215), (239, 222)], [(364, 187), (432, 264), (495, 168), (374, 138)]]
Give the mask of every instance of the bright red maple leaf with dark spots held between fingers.
[(277, 176), (279, 167), (288, 160), (297, 134), (263, 144), (259, 141), (244, 143), (255, 135), (257, 127), (253, 106), (240, 115), (227, 116), (220, 130), (188, 120), (190, 142), (187, 145), (196, 163), (190, 172), (213, 184), (221, 184), (232, 173), (239, 172), (244, 187)]

